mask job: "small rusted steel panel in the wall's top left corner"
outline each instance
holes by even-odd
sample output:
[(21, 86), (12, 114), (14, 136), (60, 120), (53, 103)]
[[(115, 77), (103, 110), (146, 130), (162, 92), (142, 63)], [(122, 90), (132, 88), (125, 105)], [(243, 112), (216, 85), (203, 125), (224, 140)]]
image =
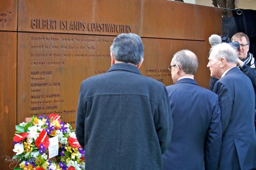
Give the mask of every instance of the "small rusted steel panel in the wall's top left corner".
[(0, 31), (17, 30), (17, 7), (17, 0), (0, 2)]

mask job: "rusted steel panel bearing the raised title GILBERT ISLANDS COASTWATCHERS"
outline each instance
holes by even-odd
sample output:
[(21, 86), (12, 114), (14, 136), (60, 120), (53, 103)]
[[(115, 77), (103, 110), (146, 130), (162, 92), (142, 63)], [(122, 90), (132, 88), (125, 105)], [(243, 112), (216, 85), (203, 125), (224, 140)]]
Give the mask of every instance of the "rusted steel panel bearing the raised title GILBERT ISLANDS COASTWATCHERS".
[(141, 1), (23, 0), (18, 3), (18, 31), (97, 35), (140, 32)]

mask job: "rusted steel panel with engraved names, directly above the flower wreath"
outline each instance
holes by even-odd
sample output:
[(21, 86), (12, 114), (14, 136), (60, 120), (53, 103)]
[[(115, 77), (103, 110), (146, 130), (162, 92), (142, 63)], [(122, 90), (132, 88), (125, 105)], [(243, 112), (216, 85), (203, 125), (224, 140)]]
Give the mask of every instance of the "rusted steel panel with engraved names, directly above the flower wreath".
[(18, 34), (18, 122), (57, 113), (74, 128), (82, 80), (111, 66), (114, 36)]

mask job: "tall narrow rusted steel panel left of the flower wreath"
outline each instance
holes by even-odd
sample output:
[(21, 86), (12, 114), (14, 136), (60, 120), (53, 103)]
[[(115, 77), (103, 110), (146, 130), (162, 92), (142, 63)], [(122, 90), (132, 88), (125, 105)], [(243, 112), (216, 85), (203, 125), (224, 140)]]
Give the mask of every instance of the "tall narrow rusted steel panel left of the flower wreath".
[(0, 31), (0, 168), (13, 169), (12, 137), (16, 125), (17, 33)]

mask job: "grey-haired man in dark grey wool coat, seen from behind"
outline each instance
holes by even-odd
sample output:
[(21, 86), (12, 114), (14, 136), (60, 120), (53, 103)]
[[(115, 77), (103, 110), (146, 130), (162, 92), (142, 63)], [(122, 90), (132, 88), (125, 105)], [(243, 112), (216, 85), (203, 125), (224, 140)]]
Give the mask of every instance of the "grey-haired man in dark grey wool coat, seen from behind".
[(142, 76), (143, 44), (120, 34), (111, 68), (80, 86), (76, 136), (88, 169), (162, 169), (173, 119), (165, 86)]

